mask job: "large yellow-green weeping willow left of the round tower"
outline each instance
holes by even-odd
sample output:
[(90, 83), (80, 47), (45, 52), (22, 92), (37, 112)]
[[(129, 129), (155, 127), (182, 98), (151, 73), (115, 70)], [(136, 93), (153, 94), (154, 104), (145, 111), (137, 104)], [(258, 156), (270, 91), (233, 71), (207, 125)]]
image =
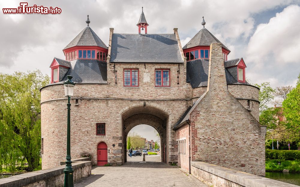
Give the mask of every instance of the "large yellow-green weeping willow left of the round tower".
[(15, 171), (28, 162), (28, 171), (40, 164), (41, 94), (49, 77), (39, 70), (0, 74), (0, 167)]

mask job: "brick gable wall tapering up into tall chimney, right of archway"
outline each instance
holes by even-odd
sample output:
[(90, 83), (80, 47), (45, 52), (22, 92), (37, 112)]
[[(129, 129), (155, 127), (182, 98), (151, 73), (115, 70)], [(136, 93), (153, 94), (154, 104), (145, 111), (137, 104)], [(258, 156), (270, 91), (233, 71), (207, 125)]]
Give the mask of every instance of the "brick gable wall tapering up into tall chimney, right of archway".
[(210, 52), (208, 92), (190, 114), (191, 160), (264, 175), (265, 130), (227, 90), (221, 46)]

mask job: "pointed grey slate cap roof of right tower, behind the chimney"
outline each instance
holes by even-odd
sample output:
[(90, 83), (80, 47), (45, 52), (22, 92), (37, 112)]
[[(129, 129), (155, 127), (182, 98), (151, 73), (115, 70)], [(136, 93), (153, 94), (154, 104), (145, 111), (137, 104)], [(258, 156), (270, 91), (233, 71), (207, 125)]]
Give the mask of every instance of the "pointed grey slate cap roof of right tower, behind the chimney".
[(211, 45), (212, 43), (220, 43), (223, 48), (230, 52), (230, 50), (206, 28), (202, 28), (182, 49), (196, 47), (198, 45)]

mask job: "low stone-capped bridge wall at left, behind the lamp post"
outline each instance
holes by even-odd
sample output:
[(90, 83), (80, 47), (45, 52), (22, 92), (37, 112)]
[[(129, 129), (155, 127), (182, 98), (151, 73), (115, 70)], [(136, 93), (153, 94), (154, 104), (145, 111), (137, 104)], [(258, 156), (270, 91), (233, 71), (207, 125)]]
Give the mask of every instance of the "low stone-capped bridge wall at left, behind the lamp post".
[[(91, 175), (91, 161), (73, 162), (72, 166), (74, 182)], [(62, 165), (0, 179), (0, 187), (62, 187), (64, 167), (65, 165)]]

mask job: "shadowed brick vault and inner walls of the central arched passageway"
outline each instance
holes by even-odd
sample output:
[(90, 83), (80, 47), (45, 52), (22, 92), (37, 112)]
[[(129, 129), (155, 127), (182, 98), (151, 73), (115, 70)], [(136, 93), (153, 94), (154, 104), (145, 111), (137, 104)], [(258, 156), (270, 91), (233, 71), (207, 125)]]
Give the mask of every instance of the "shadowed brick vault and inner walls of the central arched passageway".
[(158, 106), (151, 106), (151, 104), (137, 105), (128, 107), (127, 110), (122, 112), (122, 142), (123, 142), (123, 163), (127, 162), (127, 136), (129, 131), (139, 125), (148, 124), (158, 131), (161, 138), (161, 161), (166, 162), (167, 158), (167, 135), (166, 126), (169, 119), (169, 114), (167, 111), (159, 108)]

